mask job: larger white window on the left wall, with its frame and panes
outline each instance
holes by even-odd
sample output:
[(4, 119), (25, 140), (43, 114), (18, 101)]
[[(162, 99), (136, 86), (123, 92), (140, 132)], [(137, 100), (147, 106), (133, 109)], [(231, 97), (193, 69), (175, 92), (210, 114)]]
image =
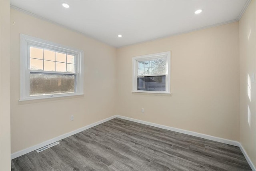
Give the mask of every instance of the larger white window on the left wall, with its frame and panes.
[(83, 94), (83, 51), (20, 35), (20, 100)]

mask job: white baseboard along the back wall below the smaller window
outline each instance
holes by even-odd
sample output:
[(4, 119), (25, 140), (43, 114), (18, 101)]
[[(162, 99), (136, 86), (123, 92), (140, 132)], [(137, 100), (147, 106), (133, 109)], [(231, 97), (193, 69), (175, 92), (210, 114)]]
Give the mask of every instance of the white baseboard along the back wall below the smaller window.
[(166, 130), (170, 130), (170, 131), (175, 131), (175, 132), (184, 133), (184, 134), (187, 134), (187, 135), (192, 135), (192, 136), (195, 136), (195, 137), (209, 139), (209, 140), (217, 141), (217, 142), (220, 142), (220, 143), (234, 145), (234, 146), (237, 146), (237, 147), (240, 146), (240, 143), (238, 141), (233, 141), (233, 140), (230, 140), (230, 139), (214, 137), (214, 136), (211, 136), (211, 135), (206, 135), (206, 134), (197, 133), (197, 132), (193, 132), (193, 131), (187, 131), (187, 130), (184, 130), (184, 129), (178, 129), (178, 128), (174, 128), (174, 127), (169, 127), (169, 126), (165, 126), (165, 125), (160, 125), (160, 124), (147, 122), (147, 121), (142, 121), (142, 120), (138, 120), (138, 119), (133, 119), (133, 118), (130, 118), (130, 117), (125, 117), (125, 116), (120, 116), (120, 115), (117, 115), (117, 117), (120, 118), (120, 119), (126, 119), (128, 121), (134, 121), (134, 122), (137, 122), (137, 123), (142, 123), (142, 124), (150, 125), (150, 126), (153, 126), (153, 127), (158, 127), (158, 128), (162, 128), (162, 129), (166, 129)]

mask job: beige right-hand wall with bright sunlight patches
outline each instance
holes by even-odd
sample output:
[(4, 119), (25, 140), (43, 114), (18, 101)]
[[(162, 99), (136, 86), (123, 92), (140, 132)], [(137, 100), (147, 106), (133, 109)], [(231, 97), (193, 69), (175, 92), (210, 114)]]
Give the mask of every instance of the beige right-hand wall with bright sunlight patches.
[[(240, 143), (256, 167), (256, 0), (239, 21)], [(248, 82), (248, 76), (254, 83)]]

